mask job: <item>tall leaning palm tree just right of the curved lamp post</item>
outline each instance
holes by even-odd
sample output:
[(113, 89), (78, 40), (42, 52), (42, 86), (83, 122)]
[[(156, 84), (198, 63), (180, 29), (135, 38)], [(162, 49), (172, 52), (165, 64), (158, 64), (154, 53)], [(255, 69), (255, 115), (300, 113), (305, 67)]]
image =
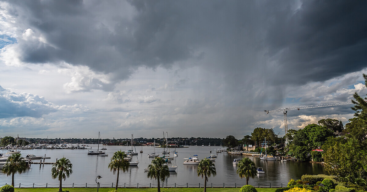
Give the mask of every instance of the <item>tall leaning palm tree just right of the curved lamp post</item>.
[(116, 181), (116, 190), (117, 186), (119, 185), (119, 174), (120, 170), (122, 170), (124, 173), (128, 171), (130, 163), (126, 161), (124, 158), (126, 158), (127, 155), (124, 151), (116, 151), (113, 153), (113, 156), (111, 157), (111, 162), (108, 164), (108, 168), (113, 171), (113, 174), (117, 171), (117, 181)]

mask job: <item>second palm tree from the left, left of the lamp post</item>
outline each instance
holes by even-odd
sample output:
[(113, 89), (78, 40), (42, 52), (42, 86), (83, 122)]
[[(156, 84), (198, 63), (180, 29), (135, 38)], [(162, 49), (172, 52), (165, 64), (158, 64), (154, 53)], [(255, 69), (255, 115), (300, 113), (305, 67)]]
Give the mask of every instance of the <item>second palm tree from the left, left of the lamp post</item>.
[(62, 179), (65, 181), (72, 173), (73, 164), (65, 157), (57, 160), (56, 163), (52, 165), (51, 177), (53, 179), (57, 178), (60, 181), (59, 192), (62, 192)]

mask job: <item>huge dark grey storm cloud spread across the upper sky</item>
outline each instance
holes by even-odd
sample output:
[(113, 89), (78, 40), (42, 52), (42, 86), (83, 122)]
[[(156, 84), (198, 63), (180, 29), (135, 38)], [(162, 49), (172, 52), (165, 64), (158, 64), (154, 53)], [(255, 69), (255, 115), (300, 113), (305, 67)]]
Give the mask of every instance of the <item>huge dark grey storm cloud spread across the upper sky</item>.
[[(324, 81), (366, 66), (365, 1), (302, 1), (301, 7), (293, 1), (9, 2), (21, 27), (47, 42), (19, 40), (23, 61), (86, 65), (112, 73), (112, 83), (140, 66), (184, 62), (241, 93), (267, 83)], [(281, 87), (264, 91), (283, 95)]]

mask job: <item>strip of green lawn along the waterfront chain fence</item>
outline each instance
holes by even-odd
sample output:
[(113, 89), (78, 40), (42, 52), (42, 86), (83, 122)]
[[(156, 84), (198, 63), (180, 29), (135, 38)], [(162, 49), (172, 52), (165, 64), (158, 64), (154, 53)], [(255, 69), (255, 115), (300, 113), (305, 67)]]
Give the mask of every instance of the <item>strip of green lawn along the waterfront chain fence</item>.
[[(108, 192), (115, 188), (99, 188), (98, 192)], [(258, 192), (274, 192), (276, 188), (256, 188)], [(57, 192), (59, 188), (15, 188), (15, 191), (19, 192)], [(70, 192), (95, 192), (97, 188), (62, 188), (63, 191), (68, 190)], [(119, 188), (119, 192), (156, 192), (157, 188)], [(161, 188), (161, 192), (202, 192), (204, 188)], [(240, 188), (207, 188), (207, 192), (239, 192)]]

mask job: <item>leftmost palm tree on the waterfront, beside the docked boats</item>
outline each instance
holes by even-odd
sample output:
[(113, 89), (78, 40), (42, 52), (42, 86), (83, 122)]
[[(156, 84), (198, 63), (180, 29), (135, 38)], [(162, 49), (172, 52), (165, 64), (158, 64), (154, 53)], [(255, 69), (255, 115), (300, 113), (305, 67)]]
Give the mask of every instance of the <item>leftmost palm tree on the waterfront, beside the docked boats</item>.
[(11, 185), (14, 187), (14, 174), (22, 174), (26, 169), (27, 165), (25, 161), (23, 161), (21, 154), (12, 154), (6, 160), (6, 163), (3, 167), (3, 173), (5, 173), (7, 176), (11, 175)]

